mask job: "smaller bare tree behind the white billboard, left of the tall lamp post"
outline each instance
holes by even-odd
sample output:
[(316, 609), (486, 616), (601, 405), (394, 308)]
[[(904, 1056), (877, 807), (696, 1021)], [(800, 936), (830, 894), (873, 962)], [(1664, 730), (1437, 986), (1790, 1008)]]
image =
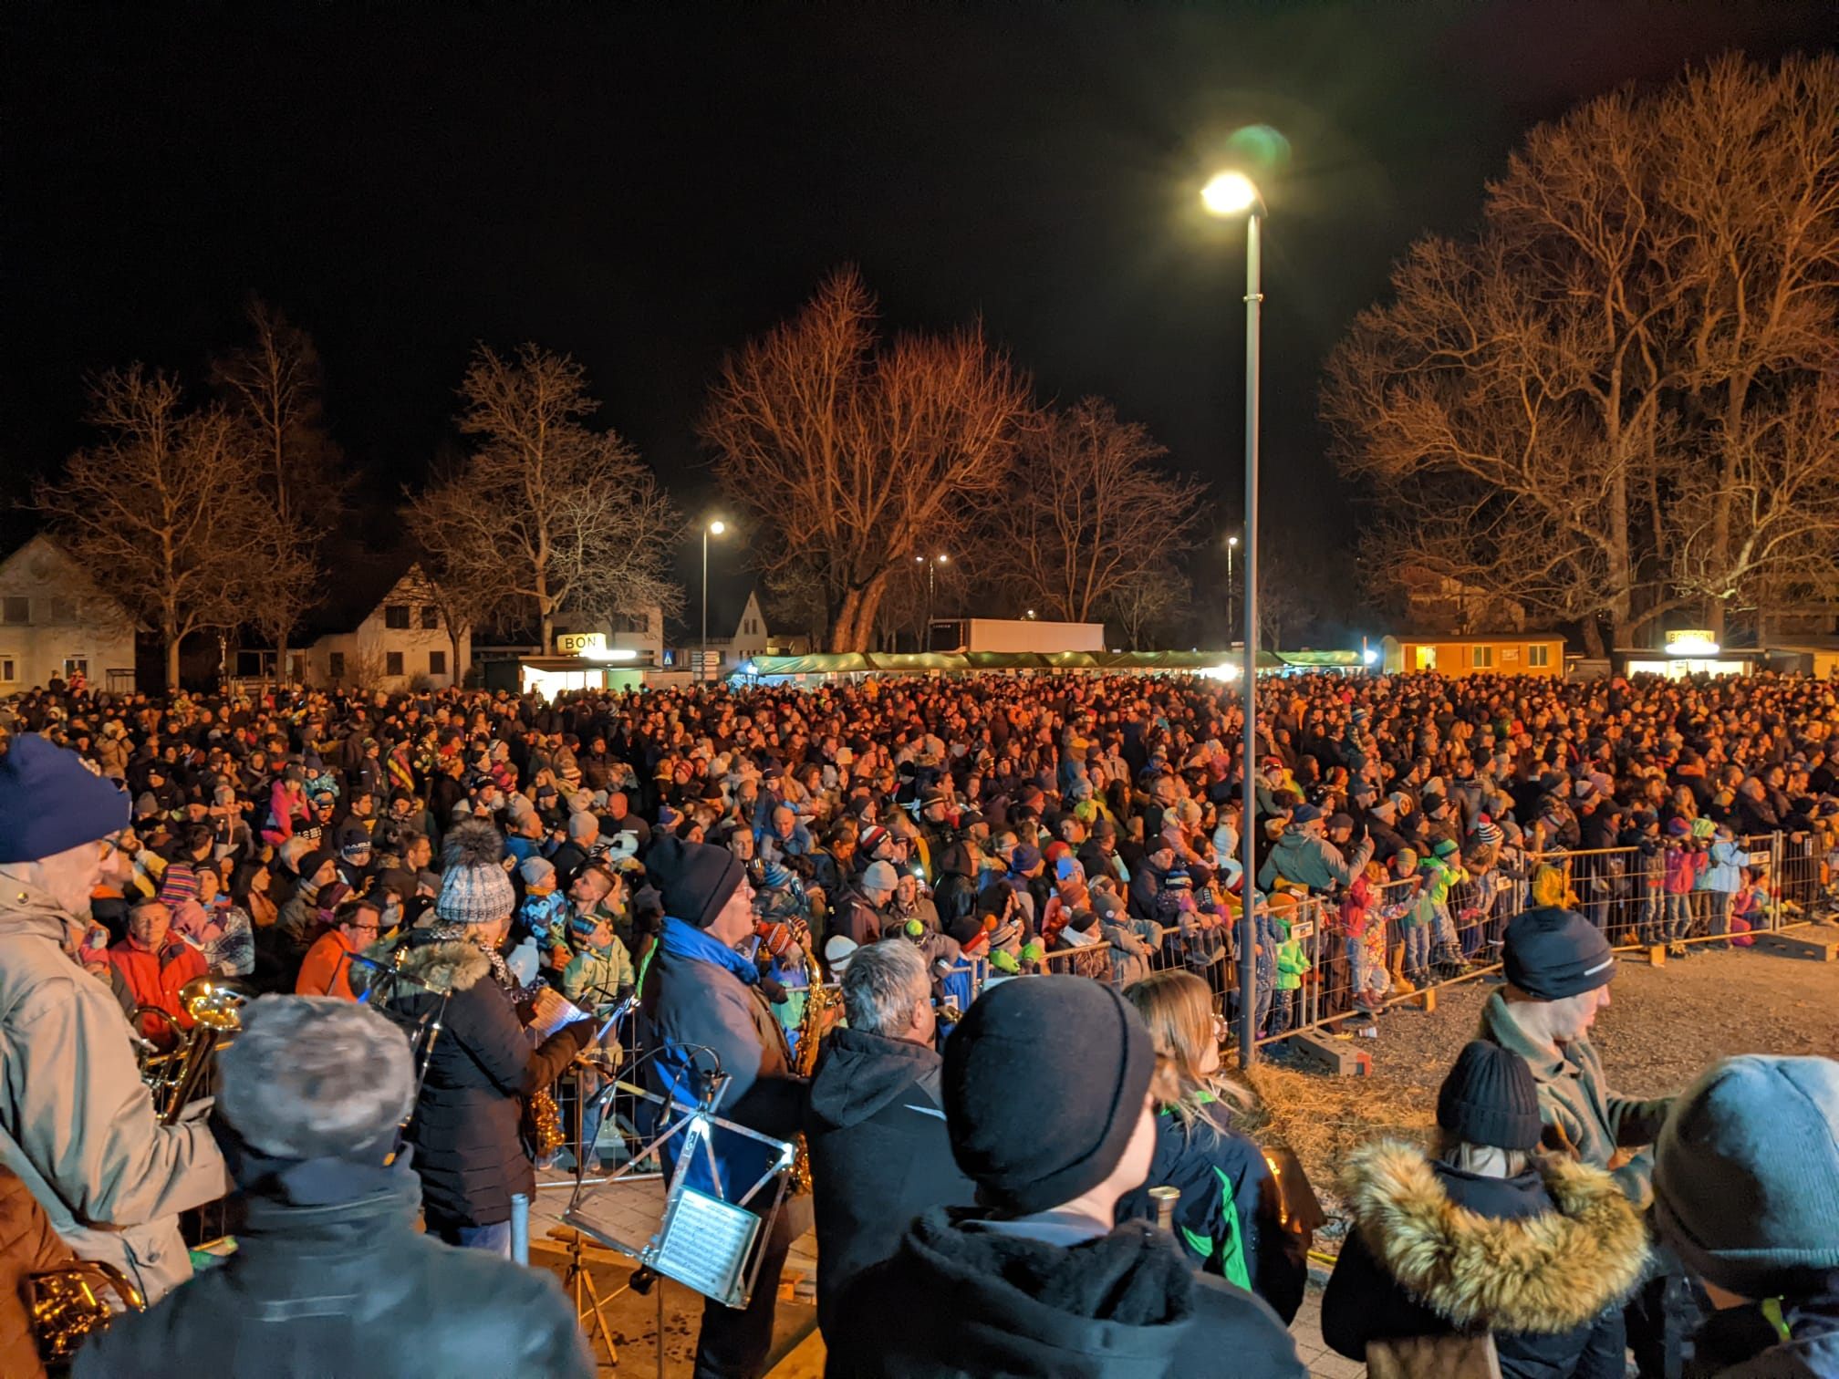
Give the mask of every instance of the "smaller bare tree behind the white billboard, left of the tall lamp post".
[(1089, 621), (1201, 524), (1205, 485), (1164, 471), (1164, 454), (1102, 397), (1032, 416), (1013, 482), (988, 509), (995, 570), (1048, 616)]

